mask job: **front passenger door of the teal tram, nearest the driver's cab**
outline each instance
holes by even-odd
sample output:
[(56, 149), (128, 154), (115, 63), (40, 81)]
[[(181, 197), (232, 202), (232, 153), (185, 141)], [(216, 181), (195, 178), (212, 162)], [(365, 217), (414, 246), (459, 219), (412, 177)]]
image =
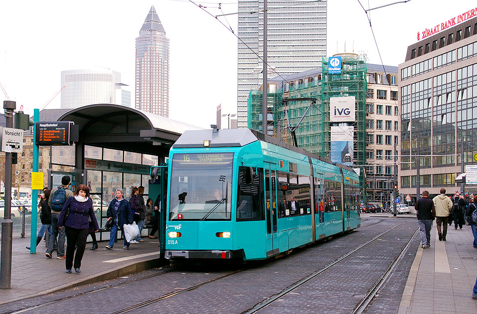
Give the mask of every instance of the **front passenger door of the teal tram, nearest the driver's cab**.
[(279, 252), (277, 232), (277, 176), (272, 163), (265, 162), (265, 208), (267, 222), (267, 257)]

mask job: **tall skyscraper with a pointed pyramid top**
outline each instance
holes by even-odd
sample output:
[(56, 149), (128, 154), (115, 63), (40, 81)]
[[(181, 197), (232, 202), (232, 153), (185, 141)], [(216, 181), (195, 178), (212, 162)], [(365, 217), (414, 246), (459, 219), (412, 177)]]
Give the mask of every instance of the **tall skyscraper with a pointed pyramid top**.
[(136, 38), (136, 109), (169, 116), (169, 39), (151, 6)]

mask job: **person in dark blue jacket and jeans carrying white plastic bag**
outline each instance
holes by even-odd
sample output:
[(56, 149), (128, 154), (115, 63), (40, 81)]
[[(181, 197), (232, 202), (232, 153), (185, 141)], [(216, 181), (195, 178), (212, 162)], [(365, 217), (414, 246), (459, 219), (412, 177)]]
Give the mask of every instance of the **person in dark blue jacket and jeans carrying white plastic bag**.
[(121, 234), (124, 238), (124, 250), (129, 249), (129, 242), (126, 241), (124, 236), (123, 225), (133, 223), (133, 212), (131, 211), (131, 205), (124, 199), (124, 191), (122, 188), (116, 189), (116, 198), (109, 203), (108, 211), (106, 213), (108, 221), (114, 219), (113, 226), (111, 227), (111, 234), (109, 237), (109, 245), (106, 246), (108, 250), (113, 249), (114, 241), (116, 240), (116, 233), (118, 228), (121, 229)]

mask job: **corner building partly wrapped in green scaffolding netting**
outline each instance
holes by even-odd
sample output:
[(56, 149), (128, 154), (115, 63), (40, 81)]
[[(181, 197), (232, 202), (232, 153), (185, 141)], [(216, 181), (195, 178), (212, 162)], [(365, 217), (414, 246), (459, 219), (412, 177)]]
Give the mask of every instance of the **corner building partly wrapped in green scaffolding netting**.
[[(379, 111), (375, 115), (374, 109), (372, 113), (370, 110), (376, 106), (376, 108), (379, 107), (379, 110), (386, 108), (386, 115), (389, 113), (389, 108), (381, 103), (387, 100), (391, 101), (392, 97), (397, 99), (397, 94), (395, 94), (397, 93), (397, 67), (385, 66), (383, 68), (377, 64), (366, 64), (363, 56), (351, 53), (339, 54), (339, 56), (342, 58), (340, 74), (329, 73), (328, 62), (323, 58), (321, 68), (276, 77), (269, 81), (267, 134), (293, 145), (291, 130), (296, 128), (295, 134), (299, 147), (330, 159), (332, 127), (343, 131), (352, 128), (352, 141), (343, 142), (344, 146), (339, 151), (339, 157), (341, 160), (344, 158), (346, 162), (351, 161), (354, 168), (360, 169), (362, 184), (364, 186), (364, 182), (366, 182), (367, 188), (369, 188), (367, 199), (370, 201), (380, 200), (380, 196), (386, 195), (389, 192), (388, 189), (392, 187), (389, 182), (392, 181), (391, 176), (393, 176), (388, 173), (389, 169), (385, 168), (384, 164), (377, 164), (384, 162), (384, 160), (380, 160), (384, 155), (383, 151), (392, 150), (392, 146), (387, 150), (381, 148), (381, 144), (388, 145), (387, 142), (386, 144), (381, 142), (383, 138), (388, 140), (388, 134), (384, 133), (390, 131), (387, 130), (389, 125), (391, 128), (396, 126), (394, 120), (399, 116), (394, 117), (397, 104), (395, 104), (396, 108), (391, 107), (392, 112), (389, 117), (385, 117), (384, 112)], [(374, 89), (377, 91), (376, 97)], [(381, 90), (386, 90), (384, 96), (381, 95)], [(377, 93), (380, 93), (379, 97)], [(330, 98), (349, 96), (353, 96), (355, 99), (354, 121), (330, 122)], [(317, 101), (316, 104), (311, 104), (309, 101), (282, 102), (288, 98), (315, 98)], [(391, 102), (395, 103), (394, 100)], [(249, 93), (247, 105), (248, 127), (263, 132), (262, 91), (252, 90)], [(379, 116), (381, 114), (383, 114), (382, 117)], [(366, 124), (371, 119), (373, 119), (373, 123)], [(375, 120), (376, 123), (374, 123)], [(375, 126), (381, 125), (385, 125), (386, 130), (374, 129)], [(400, 123), (397, 125), (399, 126)], [(394, 130), (392, 131), (394, 132)], [(391, 140), (396, 140), (395, 136), (397, 135), (399, 135), (398, 131), (395, 135), (393, 133)], [(374, 140), (375, 138), (377, 141)], [(379, 147), (376, 147), (377, 143), (381, 143)], [(341, 156), (342, 152), (344, 152), (343, 156)], [(373, 153), (371, 155), (368, 152)], [(376, 154), (380, 155), (376, 156)], [(386, 174), (383, 173), (384, 168), (388, 171)], [(377, 181), (387, 183), (376, 183)]]

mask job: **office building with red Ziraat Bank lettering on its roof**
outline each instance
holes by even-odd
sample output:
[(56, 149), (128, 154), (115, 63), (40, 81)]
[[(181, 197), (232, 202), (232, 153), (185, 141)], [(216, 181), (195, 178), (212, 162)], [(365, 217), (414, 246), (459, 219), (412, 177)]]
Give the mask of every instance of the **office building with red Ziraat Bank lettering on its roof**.
[(460, 190), (456, 176), (461, 173), (461, 157), (465, 164), (475, 164), (477, 153), (477, 17), (422, 36), (407, 48), (398, 72), (400, 192), (413, 199), (417, 180), (421, 193), (438, 194), (442, 187), (449, 195)]

